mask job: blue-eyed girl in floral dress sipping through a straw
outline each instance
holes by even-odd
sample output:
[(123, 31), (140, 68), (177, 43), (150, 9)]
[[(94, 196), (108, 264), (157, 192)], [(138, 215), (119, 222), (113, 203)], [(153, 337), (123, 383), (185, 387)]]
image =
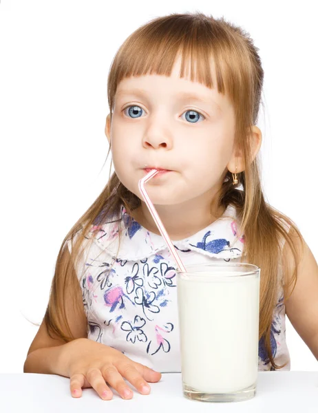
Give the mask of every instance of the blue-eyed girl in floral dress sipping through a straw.
[(180, 372), (176, 264), (138, 189), (153, 168), (165, 171), (147, 191), (185, 265), (261, 268), (259, 370), (290, 370), (285, 311), (318, 359), (317, 262), (259, 177), (257, 50), (199, 12), (153, 19), (120, 47), (105, 127), (115, 172), (63, 240), (25, 372), (102, 399), (110, 387), (131, 398), (124, 378), (147, 394), (160, 372)]

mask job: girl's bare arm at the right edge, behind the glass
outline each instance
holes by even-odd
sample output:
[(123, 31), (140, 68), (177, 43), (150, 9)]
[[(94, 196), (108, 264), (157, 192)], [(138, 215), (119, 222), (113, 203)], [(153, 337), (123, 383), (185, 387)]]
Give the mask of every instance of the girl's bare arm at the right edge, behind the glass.
[[(295, 236), (300, 251), (300, 240)], [(284, 265), (293, 262), (288, 244), (283, 250)], [(288, 291), (289, 295), (290, 291)], [(310, 248), (304, 242), (304, 254), (297, 267), (297, 282), (286, 301), (286, 315), (293, 327), (318, 360), (318, 266)]]

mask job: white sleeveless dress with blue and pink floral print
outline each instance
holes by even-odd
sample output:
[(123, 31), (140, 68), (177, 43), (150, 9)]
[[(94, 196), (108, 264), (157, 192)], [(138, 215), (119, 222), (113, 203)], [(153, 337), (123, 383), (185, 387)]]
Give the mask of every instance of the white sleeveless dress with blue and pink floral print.
[[(76, 275), (88, 320), (87, 337), (159, 372), (180, 372), (176, 263), (161, 235), (135, 220), (129, 225), (123, 206), (120, 218), (124, 231), (119, 249), (118, 222), (92, 226), (87, 243), (82, 244), (83, 257)], [(229, 205), (220, 219), (184, 240), (173, 241), (173, 245), (185, 266), (240, 262), (244, 235), (237, 239), (238, 224), (235, 209)], [(88, 242), (92, 244), (88, 246)], [(71, 251), (71, 240), (67, 240), (67, 246)], [(271, 346), (275, 363), (287, 362), (280, 370), (290, 370), (283, 299), (281, 289), (273, 315)], [(274, 369), (266, 361), (261, 339), (259, 371), (264, 370)]]

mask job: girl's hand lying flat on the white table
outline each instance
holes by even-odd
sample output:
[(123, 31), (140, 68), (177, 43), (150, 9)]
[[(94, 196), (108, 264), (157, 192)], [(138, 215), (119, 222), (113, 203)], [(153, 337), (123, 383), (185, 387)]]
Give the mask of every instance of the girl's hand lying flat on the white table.
[(133, 392), (124, 381), (134, 385), (141, 394), (149, 394), (147, 381), (155, 383), (161, 373), (132, 361), (122, 352), (90, 339), (76, 339), (63, 345), (61, 363), (65, 363), (66, 377), (70, 377), (73, 397), (81, 397), (82, 388), (94, 388), (103, 400), (113, 397), (114, 388), (123, 399), (131, 399)]

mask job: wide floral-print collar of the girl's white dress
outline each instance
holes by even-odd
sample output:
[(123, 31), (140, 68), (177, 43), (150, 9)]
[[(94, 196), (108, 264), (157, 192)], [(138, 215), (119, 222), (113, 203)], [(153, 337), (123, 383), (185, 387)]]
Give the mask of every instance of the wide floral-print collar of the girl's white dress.
[[(153, 233), (141, 226), (134, 218), (129, 225), (129, 214), (122, 205), (120, 208), (123, 233), (118, 251), (118, 224), (119, 222), (106, 222), (94, 225), (90, 230), (94, 233), (94, 242), (103, 250), (107, 250), (119, 260), (144, 260), (151, 255), (165, 253), (169, 248), (161, 235)], [(173, 241), (177, 251), (184, 253), (195, 251), (209, 257), (233, 259), (242, 255), (244, 235), (237, 238), (239, 222), (235, 208), (229, 205), (222, 217), (206, 226), (197, 233)]]

